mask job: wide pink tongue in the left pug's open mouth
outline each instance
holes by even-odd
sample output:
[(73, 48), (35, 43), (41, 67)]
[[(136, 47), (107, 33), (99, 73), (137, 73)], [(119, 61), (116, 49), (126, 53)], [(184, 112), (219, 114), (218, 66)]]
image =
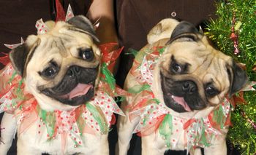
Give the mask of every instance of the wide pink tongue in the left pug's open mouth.
[(69, 99), (75, 98), (80, 95), (85, 95), (92, 87), (93, 86), (91, 84), (78, 84), (78, 86), (75, 87), (74, 90), (69, 92)]

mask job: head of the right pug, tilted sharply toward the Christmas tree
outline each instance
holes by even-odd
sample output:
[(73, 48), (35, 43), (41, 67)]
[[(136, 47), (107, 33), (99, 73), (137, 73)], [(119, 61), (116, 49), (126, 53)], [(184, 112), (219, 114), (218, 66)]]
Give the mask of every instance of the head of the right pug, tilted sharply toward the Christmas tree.
[(159, 67), (163, 99), (177, 112), (217, 106), (247, 82), (245, 71), (232, 57), (214, 49), (206, 36), (187, 22), (174, 28)]

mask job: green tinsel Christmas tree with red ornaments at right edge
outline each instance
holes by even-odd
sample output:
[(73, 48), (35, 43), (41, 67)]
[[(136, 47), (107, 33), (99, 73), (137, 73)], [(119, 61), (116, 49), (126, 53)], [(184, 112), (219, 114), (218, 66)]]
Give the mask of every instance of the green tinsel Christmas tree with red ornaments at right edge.
[[(246, 70), (256, 81), (256, 1), (226, 0), (217, 3), (217, 19), (208, 23), (208, 37), (217, 48)], [(252, 84), (253, 85), (253, 84)], [(252, 86), (252, 89), (255, 86)], [(232, 126), (227, 135), (238, 151), (256, 154), (256, 93), (239, 92), (233, 97)]]

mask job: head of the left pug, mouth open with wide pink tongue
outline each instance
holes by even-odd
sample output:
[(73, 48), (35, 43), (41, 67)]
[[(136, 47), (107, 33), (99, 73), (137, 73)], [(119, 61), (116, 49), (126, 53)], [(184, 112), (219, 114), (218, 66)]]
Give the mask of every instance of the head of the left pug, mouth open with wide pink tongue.
[[(55, 23), (42, 35), (31, 35), (10, 52), (26, 90), (48, 106), (79, 106), (94, 96), (101, 53), (93, 25), (75, 16)], [(57, 106), (56, 106), (57, 107)]]

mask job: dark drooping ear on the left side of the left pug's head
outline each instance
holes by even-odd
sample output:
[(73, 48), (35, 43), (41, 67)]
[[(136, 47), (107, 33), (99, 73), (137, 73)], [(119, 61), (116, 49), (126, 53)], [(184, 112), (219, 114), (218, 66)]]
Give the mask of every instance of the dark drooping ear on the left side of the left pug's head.
[(17, 71), (20, 76), (24, 76), (25, 66), (27, 60), (31, 58), (31, 47), (34, 46), (34, 43), (37, 41), (37, 36), (31, 35), (26, 39), (24, 44), (12, 49), (9, 54), (10, 61), (13, 68)]

